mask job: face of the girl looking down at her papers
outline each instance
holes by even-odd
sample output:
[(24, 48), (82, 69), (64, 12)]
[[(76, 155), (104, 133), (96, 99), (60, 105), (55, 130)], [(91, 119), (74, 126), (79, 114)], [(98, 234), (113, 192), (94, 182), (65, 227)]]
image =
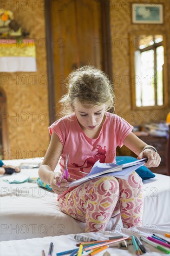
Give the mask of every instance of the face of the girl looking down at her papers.
[(81, 103), (77, 103), (74, 112), (78, 119), (78, 122), (83, 130), (96, 130), (104, 119), (105, 104), (93, 107), (85, 108)]

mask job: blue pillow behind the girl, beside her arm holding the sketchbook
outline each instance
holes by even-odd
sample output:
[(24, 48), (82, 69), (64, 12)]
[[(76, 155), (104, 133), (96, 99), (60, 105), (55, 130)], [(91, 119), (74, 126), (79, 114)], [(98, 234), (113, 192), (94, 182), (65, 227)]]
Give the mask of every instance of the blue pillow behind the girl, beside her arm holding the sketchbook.
[[(121, 161), (122, 160), (122, 161)], [(128, 162), (134, 162), (136, 161), (137, 158), (133, 156), (116, 156), (116, 162), (117, 164), (123, 164), (123, 163), (128, 163)], [(153, 174), (146, 166), (141, 166), (136, 170), (137, 174), (142, 178), (142, 180), (148, 180), (150, 178), (154, 178), (155, 174)]]

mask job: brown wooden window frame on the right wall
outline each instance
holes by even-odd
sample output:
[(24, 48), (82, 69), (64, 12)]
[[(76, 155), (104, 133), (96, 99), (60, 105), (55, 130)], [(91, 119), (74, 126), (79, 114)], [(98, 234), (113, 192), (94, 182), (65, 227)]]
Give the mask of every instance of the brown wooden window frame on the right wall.
[[(163, 36), (163, 41), (156, 43), (154, 45), (162, 45), (163, 46), (163, 53), (164, 53), (164, 69), (163, 69), (163, 105), (162, 106), (158, 106), (158, 105), (154, 105), (154, 106), (141, 106), (141, 107), (137, 107), (136, 106), (136, 84), (134, 82), (134, 78), (135, 78), (135, 50), (137, 49), (137, 47), (133, 47), (132, 46), (132, 42), (135, 39), (138, 39), (138, 35), (156, 35), (156, 34), (161, 34)], [(157, 46), (157, 47), (158, 47)], [(144, 52), (149, 49), (153, 49), (154, 50), (154, 46), (148, 46), (144, 49), (139, 49), (141, 52)], [(162, 33), (161, 31), (132, 31), (130, 33), (130, 81), (131, 81), (131, 108), (132, 110), (150, 110), (150, 109), (165, 109), (167, 108), (168, 105), (168, 77), (167, 77), (167, 48), (166, 48), (166, 37), (165, 34)], [(155, 68), (155, 65), (154, 65)], [(155, 84), (155, 87), (157, 87), (157, 84)], [(155, 90), (155, 95), (157, 94), (157, 90)], [(155, 103), (157, 103), (155, 101)]]

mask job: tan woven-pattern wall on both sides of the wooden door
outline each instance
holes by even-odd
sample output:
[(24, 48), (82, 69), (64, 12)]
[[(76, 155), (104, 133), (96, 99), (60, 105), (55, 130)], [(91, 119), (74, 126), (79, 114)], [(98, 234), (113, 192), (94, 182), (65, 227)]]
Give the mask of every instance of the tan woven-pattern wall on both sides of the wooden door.
[[(22, 2), (22, 5), (20, 3)], [(168, 0), (157, 0), (164, 6), (163, 25), (133, 25), (131, 23), (131, 3), (133, 0), (110, 0), (111, 16), (111, 52), (113, 64), (113, 82), (116, 94), (116, 113), (121, 115), (132, 125), (137, 126), (146, 121), (151, 121), (152, 114), (156, 113), (157, 121), (165, 120), (168, 108), (164, 110), (136, 111), (140, 119), (136, 122), (134, 112), (131, 110), (130, 92), (130, 51), (129, 44), (125, 42), (132, 30), (160, 29), (167, 34), (167, 58), (170, 70), (170, 5)], [(140, 0), (140, 3), (146, 2)], [(150, 1), (151, 2), (151, 1)], [(5, 3), (6, 6), (3, 6)], [(11, 151), (9, 157), (32, 158), (33, 155), (43, 156), (49, 143), (48, 125), (48, 82), (46, 70), (46, 42), (44, 3), (37, 1), (3, 0), (1, 8), (11, 9), (15, 19), (30, 32), (30, 38), (36, 39), (37, 72), (35, 73), (1, 73), (6, 77), (6, 82), (1, 83), (7, 95), (7, 118), (9, 141)], [(122, 44), (118, 47), (118, 41)], [(20, 82), (22, 76), (28, 77), (28, 82)], [(32, 77), (34, 76), (34, 78)], [(45, 76), (46, 81), (42, 76)], [(127, 77), (127, 83), (125, 83)], [(34, 84), (33, 84), (34, 79)], [(42, 79), (42, 80), (41, 80)], [(168, 77), (170, 84), (170, 76)], [(17, 80), (17, 81), (15, 81)], [(18, 82), (19, 81), (19, 82)], [(120, 82), (121, 81), (121, 82)], [(28, 115), (28, 121), (22, 121), (23, 113)], [(35, 114), (30, 114), (35, 113)], [(34, 115), (34, 118), (33, 118)], [(12, 118), (17, 116), (18, 118)]]

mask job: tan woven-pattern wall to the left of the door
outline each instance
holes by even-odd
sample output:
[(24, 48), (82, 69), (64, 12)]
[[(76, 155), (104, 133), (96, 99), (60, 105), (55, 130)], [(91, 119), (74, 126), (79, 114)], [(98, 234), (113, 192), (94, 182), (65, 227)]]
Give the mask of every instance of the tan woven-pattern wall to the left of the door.
[(49, 143), (45, 6), (41, 0), (3, 0), (0, 7), (12, 10), (15, 20), (35, 39), (37, 62), (37, 72), (0, 73), (7, 96), (7, 154), (11, 159), (42, 157)]

